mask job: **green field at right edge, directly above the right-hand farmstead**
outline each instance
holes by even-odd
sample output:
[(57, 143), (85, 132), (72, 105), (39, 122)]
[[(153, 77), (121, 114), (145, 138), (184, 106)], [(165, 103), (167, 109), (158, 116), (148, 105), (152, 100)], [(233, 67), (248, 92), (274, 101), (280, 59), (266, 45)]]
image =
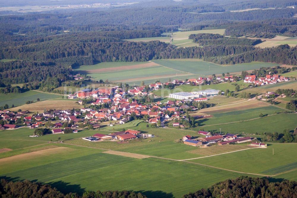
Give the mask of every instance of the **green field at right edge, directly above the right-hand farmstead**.
[[(285, 111), (285, 110), (284, 110)], [(260, 114), (260, 112), (258, 112)], [(219, 130), (228, 133), (264, 133), (278, 132), (283, 133), (284, 129), (294, 130), (296, 128), (297, 114), (277, 114), (267, 117), (262, 117), (255, 120), (219, 124), (212, 126), (201, 126), (204, 130)]]

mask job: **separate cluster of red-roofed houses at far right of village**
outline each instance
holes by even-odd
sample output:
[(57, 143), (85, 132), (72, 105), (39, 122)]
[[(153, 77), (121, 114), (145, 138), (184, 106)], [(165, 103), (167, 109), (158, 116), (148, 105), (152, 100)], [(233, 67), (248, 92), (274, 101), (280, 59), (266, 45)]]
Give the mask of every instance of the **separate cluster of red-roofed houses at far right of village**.
[(288, 81), (289, 78), (285, 76), (279, 76), (278, 74), (267, 74), (266, 77), (260, 77), (257, 79), (256, 75), (249, 75), (244, 78), (245, 83), (252, 83), (255, 85), (265, 85), (265, 84), (276, 84), (278, 82), (285, 82)]

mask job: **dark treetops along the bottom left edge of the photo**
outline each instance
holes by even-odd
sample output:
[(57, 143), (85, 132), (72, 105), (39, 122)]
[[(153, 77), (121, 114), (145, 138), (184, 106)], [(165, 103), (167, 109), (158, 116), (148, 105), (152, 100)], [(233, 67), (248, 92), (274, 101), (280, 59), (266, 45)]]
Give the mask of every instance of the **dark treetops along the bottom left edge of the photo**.
[(86, 191), (82, 196), (77, 193), (63, 194), (48, 184), (30, 182), (28, 180), (12, 182), (1, 179), (0, 197), (22, 197), (22, 198), (146, 198), (141, 193), (131, 191)]

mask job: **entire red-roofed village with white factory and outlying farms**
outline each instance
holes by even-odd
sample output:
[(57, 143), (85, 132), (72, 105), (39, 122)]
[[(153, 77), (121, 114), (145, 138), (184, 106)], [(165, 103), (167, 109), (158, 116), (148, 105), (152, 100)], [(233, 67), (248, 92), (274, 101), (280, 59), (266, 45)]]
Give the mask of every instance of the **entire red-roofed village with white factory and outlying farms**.
[[(81, 80), (80, 75), (73, 76), (75, 80)], [(110, 126), (121, 125), (132, 120), (141, 119), (151, 124), (152, 127), (173, 127), (187, 128), (190, 118), (187, 117), (187, 111), (196, 111), (202, 107), (205, 101), (210, 100), (211, 96), (222, 95), (221, 90), (208, 89), (196, 92), (177, 92), (170, 93), (168, 100), (164, 103), (150, 102), (140, 103), (135, 96), (147, 97), (151, 95), (150, 91), (165, 88), (166, 86), (176, 87), (182, 84), (201, 85), (216, 81), (223, 83), (227, 81), (238, 81), (240, 78), (236, 76), (224, 76), (216, 78), (188, 79), (187, 81), (173, 80), (171, 82), (150, 84), (149, 86), (130, 87), (124, 91), (121, 87), (83, 89), (74, 94), (67, 95), (68, 99), (79, 100), (77, 103), (88, 107), (81, 109), (51, 109), (42, 113), (30, 114), (29, 111), (12, 112), (8, 110), (0, 111), (1, 122), (0, 130), (12, 130), (19, 127), (28, 127), (30, 129), (49, 127), (50, 132), (57, 133), (78, 133), (86, 128), (100, 129), (103, 122), (110, 122)], [(256, 86), (265, 84), (274, 84), (277, 82), (288, 81), (288, 78), (274, 75), (266, 75), (266, 78), (260, 77), (256, 80), (255, 75), (246, 76), (245, 83), (252, 83)], [(274, 95), (267, 93), (266, 96)], [(87, 102), (86, 102), (87, 100)], [(203, 117), (203, 116), (202, 116)], [(55, 123), (53, 123), (55, 122)], [(170, 125), (165, 126), (165, 123)], [(148, 125), (147, 125), (148, 126)], [(252, 137), (237, 137), (234, 134), (217, 134), (206, 131), (198, 131), (198, 134), (205, 137), (194, 138), (190, 136), (182, 137), (184, 144), (192, 146), (209, 146), (213, 143), (219, 145), (234, 144), (242, 142), (252, 142), (253, 146), (266, 147), (266, 144), (254, 143)], [(36, 134), (32, 137), (38, 136)], [(83, 138), (86, 141), (128, 141), (137, 138), (152, 138), (153, 134), (141, 133), (141, 131), (128, 129), (110, 133), (108, 135), (96, 133), (91, 137)]]

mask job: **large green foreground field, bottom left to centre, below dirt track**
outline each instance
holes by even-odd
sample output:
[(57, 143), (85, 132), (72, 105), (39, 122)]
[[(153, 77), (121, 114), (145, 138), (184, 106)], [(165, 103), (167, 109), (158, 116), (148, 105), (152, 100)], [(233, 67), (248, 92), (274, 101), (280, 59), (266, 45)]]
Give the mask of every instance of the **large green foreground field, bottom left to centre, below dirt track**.
[(20, 155), (5, 161), (0, 164), (0, 176), (49, 183), (64, 193), (131, 190), (148, 197), (181, 197), (189, 191), (241, 175), (185, 162), (135, 159), (102, 153), (98, 149), (61, 146), (64, 149), (50, 155), (48, 149), (43, 151), (48, 155), (37, 152), (30, 155), (30, 160)]

